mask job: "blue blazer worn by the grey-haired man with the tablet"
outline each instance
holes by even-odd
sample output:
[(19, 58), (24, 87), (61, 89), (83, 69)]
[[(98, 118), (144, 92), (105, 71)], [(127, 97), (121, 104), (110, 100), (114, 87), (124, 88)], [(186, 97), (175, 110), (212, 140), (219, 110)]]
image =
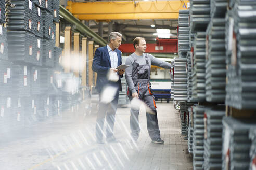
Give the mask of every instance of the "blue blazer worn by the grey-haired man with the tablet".
[[(122, 64), (121, 51), (118, 49), (116, 51), (117, 51), (118, 66), (119, 66)], [(97, 48), (95, 51), (94, 59), (93, 59), (92, 70), (94, 72), (97, 72), (96, 89), (98, 92), (100, 92), (106, 84), (111, 83), (108, 81), (108, 78), (107, 78), (107, 74), (110, 68), (111, 68), (111, 61), (110, 61), (110, 56), (108, 53), (107, 46)], [(119, 80), (116, 82), (116, 84), (119, 86), (119, 91), (122, 91), (122, 84), (121, 84), (120, 77), (123, 77), (123, 75), (119, 76)]]

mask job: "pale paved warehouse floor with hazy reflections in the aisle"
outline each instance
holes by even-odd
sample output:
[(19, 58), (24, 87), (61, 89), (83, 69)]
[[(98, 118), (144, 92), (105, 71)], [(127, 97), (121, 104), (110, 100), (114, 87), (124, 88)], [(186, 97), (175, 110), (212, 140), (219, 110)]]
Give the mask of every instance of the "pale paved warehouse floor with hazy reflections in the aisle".
[[(172, 103), (157, 103), (164, 145), (152, 144), (141, 110), (137, 143), (129, 138), (130, 108), (117, 110), (118, 143), (95, 143), (96, 116), (74, 114), (55, 123), (42, 122), (1, 134), (1, 169), (193, 169), (187, 141), (181, 136), (178, 112)], [(82, 107), (82, 106), (81, 106)], [(80, 116), (81, 115), (81, 116)]]

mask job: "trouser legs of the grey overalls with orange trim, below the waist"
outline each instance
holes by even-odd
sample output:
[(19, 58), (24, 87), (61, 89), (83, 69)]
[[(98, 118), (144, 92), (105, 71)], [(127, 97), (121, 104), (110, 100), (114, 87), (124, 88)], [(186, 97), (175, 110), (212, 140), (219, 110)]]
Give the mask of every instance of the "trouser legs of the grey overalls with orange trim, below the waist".
[[(149, 82), (139, 82), (135, 86), (136, 91), (138, 92), (139, 99), (142, 100), (147, 107), (151, 109), (151, 112), (146, 112), (147, 117), (147, 129), (148, 134), (152, 140), (157, 140), (160, 138), (160, 130), (158, 126), (157, 120), (157, 110), (155, 98), (153, 96), (151, 85)], [(132, 92), (129, 92), (130, 101), (132, 98)], [(139, 108), (131, 107), (131, 116), (130, 116), (130, 127), (131, 127), (131, 135), (134, 140), (138, 139), (138, 135), (140, 132), (139, 127)]]

